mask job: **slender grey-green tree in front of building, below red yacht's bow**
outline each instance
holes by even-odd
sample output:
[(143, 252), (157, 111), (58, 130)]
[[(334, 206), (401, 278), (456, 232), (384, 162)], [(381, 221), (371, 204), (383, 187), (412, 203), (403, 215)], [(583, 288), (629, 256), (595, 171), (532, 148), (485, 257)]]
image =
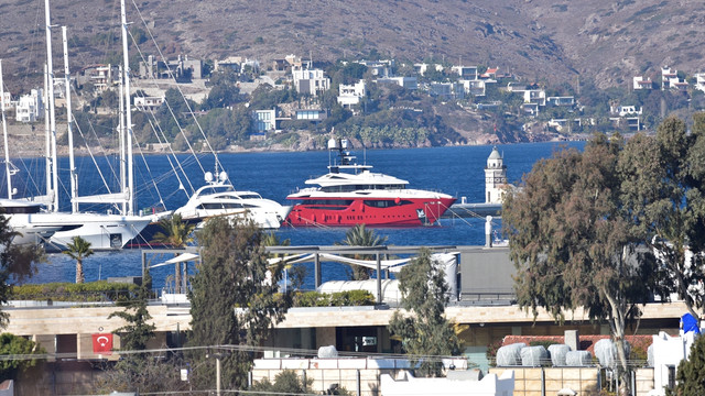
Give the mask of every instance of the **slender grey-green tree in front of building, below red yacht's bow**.
[(402, 293), (401, 307), (411, 316), (395, 311), (389, 322), (389, 331), (399, 336), (406, 353), (423, 376), (440, 376), (443, 362), (440, 356), (456, 354), (459, 341), (453, 326), (445, 318), (448, 304), (448, 284), (443, 264), (424, 248), (419, 256), (399, 274)]

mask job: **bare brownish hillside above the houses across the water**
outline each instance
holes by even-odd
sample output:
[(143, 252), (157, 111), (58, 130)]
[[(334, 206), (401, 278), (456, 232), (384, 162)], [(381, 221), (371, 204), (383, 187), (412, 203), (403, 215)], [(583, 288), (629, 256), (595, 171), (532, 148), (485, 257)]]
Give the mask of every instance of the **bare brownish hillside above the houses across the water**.
[[(702, 67), (705, 9), (692, 1), (508, 0), (329, 1), (152, 0), (128, 3), (134, 26), (149, 26), (167, 57), (241, 55), (267, 61), (294, 53), (333, 61), (433, 58), (500, 66), (525, 80), (599, 87), (654, 76), (664, 65)], [(44, 53), (43, 0), (0, 2), (0, 53), (11, 90), (39, 80)], [(140, 19), (143, 16), (143, 21)], [(69, 26), (72, 68), (115, 61), (119, 2), (52, 1), (52, 22)], [(149, 45), (141, 48), (154, 53)], [(55, 64), (61, 30), (54, 29)]]

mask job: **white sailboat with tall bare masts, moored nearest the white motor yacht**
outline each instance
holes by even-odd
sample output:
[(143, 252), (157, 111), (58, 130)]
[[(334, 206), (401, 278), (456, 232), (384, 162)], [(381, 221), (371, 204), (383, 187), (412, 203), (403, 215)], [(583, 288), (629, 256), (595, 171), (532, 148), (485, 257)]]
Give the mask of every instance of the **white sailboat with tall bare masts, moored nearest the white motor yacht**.
[[(70, 197), (72, 197), (72, 210), (70, 212), (59, 212), (59, 195), (58, 195), (58, 162), (56, 151), (56, 121), (54, 112), (54, 77), (53, 77), (53, 64), (52, 64), (52, 41), (51, 41), (51, 23), (50, 23), (50, 7), (48, 0), (44, 1), (45, 16), (46, 16), (46, 56), (47, 56), (47, 99), (48, 99), (48, 125), (50, 138), (47, 139), (47, 197), (50, 198), (48, 211), (32, 213), (26, 219), (28, 224), (34, 227), (56, 228), (56, 231), (51, 235), (47, 248), (65, 250), (67, 244), (72, 243), (74, 237), (80, 237), (91, 244), (93, 250), (115, 250), (121, 249), (128, 241), (137, 237), (144, 227), (151, 221), (150, 217), (135, 216), (134, 215), (134, 195), (132, 188), (132, 162), (131, 150), (128, 151), (129, 169), (128, 179), (129, 186), (122, 184), (122, 191), (118, 195), (110, 195), (111, 198), (117, 198), (121, 202), (120, 213), (95, 213), (95, 212), (82, 212), (79, 211), (80, 202), (105, 202), (106, 196), (98, 197), (79, 197), (78, 196), (78, 178), (76, 175), (76, 166), (74, 161), (74, 146), (73, 146), (73, 133), (70, 124), (73, 122), (73, 116), (70, 111), (70, 74), (68, 70), (68, 55), (67, 55), (67, 40), (66, 28), (63, 29), (63, 44), (64, 44), (64, 64), (66, 75), (66, 107), (68, 114), (68, 143), (69, 143), (69, 174), (70, 174)], [(123, 34), (123, 48), (126, 51), (124, 62), (127, 65), (127, 22), (124, 15), (124, 2), (122, 1), (122, 34)], [(126, 66), (126, 73), (123, 78), (129, 81), (129, 69)], [(126, 82), (129, 84), (129, 82)], [(128, 91), (129, 92), (129, 91)], [(126, 95), (124, 100), (129, 113), (130, 97)], [(128, 141), (122, 143), (130, 146), (131, 142), (131, 125), (130, 119), (127, 119), (128, 133), (122, 136)], [(7, 146), (7, 145), (6, 145)], [(51, 156), (50, 156), (51, 153)]]

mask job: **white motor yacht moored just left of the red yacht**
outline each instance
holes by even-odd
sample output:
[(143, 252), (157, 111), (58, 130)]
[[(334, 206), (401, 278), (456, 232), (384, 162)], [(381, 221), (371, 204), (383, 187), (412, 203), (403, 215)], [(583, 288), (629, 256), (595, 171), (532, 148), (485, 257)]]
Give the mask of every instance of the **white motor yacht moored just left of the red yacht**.
[(217, 180), (207, 172), (206, 185), (198, 188), (188, 202), (174, 213), (188, 222), (202, 222), (218, 216), (237, 217), (252, 220), (263, 229), (278, 229), (286, 219), (290, 206), (262, 198), (254, 191), (238, 191), (227, 179), (225, 172), (218, 175)]

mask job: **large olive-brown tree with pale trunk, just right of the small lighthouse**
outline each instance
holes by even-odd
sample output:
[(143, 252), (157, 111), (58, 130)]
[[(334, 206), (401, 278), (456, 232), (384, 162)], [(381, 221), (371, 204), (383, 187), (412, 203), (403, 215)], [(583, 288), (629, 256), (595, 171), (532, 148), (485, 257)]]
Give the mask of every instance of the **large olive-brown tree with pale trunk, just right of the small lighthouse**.
[(519, 305), (556, 320), (584, 308), (607, 321), (627, 384), (625, 334), (655, 289), (659, 270), (631, 229), (617, 172), (621, 139), (596, 135), (583, 153), (564, 150), (536, 163), (502, 208)]

